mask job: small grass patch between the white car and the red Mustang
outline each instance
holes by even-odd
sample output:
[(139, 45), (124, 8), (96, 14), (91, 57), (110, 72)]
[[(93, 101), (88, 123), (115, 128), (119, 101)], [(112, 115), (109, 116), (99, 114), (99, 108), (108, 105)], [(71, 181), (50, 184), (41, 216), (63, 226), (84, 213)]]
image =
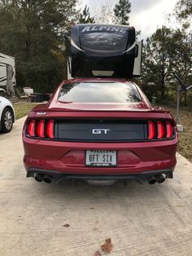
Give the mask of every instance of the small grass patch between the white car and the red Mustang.
[(16, 119), (20, 119), (21, 117), (27, 116), (28, 113), (35, 106), (37, 106), (37, 104), (30, 104), (30, 103), (26, 103), (26, 102), (15, 103), (14, 109), (15, 109)]

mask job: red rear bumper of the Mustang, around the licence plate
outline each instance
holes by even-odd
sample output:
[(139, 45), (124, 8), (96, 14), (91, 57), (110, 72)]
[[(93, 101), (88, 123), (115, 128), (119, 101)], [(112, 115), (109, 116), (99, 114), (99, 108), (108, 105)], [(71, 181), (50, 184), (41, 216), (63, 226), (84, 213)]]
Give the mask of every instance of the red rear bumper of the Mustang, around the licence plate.
[[(24, 137), (24, 166), (27, 176), (41, 172), (82, 179), (102, 177), (147, 177), (164, 173), (172, 178), (176, 166), (177, 138), (158, 142), (77, 143), (45, 141)], [(116, 167), (85, 166), (85, 150), (116, 150)], [(142, 177), (141, 176), (141, 177)]]

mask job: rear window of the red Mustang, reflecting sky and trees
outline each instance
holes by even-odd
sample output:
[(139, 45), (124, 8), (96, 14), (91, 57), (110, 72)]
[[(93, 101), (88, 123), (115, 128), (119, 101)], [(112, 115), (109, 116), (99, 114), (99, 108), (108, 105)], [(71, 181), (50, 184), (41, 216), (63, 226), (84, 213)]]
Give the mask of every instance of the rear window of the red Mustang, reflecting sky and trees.
[(65, 103), (137, 103), (141, 96), (130, 82), (75, 82), (64, 84), (58, 99)]

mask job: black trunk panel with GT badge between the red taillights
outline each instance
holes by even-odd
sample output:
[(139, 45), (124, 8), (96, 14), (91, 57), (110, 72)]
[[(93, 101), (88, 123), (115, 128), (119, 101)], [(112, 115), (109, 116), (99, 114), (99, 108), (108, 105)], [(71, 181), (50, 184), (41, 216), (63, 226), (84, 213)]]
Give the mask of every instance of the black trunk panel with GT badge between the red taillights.
[(58, 121), (56, 139), (66, 141), (143, 141), (144, 121)]

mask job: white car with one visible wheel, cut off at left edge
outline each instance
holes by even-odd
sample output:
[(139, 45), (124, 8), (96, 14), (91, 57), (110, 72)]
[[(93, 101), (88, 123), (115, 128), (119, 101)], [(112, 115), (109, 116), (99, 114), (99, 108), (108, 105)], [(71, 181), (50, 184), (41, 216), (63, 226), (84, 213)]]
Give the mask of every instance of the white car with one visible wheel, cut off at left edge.
[(15, 122), (15, 111), (11, 102), (0, 96), (0, 131), (10, 132)]

